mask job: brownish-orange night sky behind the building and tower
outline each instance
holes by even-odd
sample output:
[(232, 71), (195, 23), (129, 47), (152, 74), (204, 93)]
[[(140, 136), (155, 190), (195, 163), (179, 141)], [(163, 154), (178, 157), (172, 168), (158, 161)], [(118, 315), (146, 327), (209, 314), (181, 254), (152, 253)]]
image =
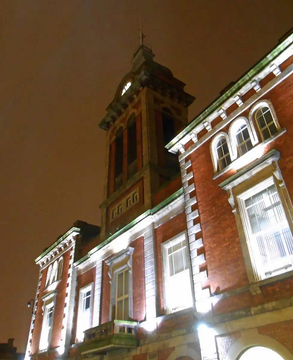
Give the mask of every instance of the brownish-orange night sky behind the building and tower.
[(155, 60), (197, 98), (190, 120), (293, 26), (292, 0), (0, 1), (0, 342), (18, 351), (34, 259), (75, 220), (100, 224), (98, 123), (131, 69), (139, 8)]

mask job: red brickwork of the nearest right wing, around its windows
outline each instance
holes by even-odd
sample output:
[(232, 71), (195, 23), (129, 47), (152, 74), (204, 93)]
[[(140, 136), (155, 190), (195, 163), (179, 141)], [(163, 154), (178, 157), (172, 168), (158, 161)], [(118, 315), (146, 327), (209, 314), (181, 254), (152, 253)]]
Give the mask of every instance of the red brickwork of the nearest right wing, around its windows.
[[(265, 152), (271, 149), (281, 152), (279, 165), (292, 199), (293, 123), (291, 119), (293, 117), (293, 77), (287, 78), (263, 96), (263, 99), (272, 102), (280, 126), (287, 129), (285, 134), (266, 147)], [(241, 116), (248, 117), (249, 111), (250, 109), (247, 109)], [(228, 133), (230, 125), (231, 123), (221, 131)], [(257, 128), (256, 131), (258, 131)], [(206, 133), (206, 130), (203, 132)], [(211, 292), (214, 292), (216, 289), (227, 291), (246, 285), (248, 284), (248, 278), (235, 217), (228, 203), (227, 193), (218, 186), (219, 183), (233, 175), (235, 171), (230, 170), (218, 179), (213, 180), (214, 171), (210, 154), (210, 142), (211, 139), (195, 150), (191, 154), (191, 161), (201, 218), (208, 280)], [(291, 288), (291, 286), (289, 287)], [(269, 300), (270, 293), (265, 290), (263, 296)], [(275, 295), (272, 295), (271, 298), (273, 300)], [(233, 304), (234, 309), (239, 306), (251, 306), (255, 300), (252, 301), (250, 295), (246, 294), (244, 298), (239, 296), (239, 298), (234, 297), (233, 301), (227, 299), (224, 302), (230, 303), (231, 306)]]

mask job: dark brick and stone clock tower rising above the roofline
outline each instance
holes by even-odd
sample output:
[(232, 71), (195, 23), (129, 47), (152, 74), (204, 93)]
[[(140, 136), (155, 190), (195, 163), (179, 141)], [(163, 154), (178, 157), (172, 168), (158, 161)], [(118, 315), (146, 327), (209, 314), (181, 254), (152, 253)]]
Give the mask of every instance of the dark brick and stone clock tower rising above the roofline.
[(194, 96), (141, 44), (99, 126), (107, 132), (101, 240), (154, 207), (153, 197), (180, 174), (165, 146), (188, 122)]

